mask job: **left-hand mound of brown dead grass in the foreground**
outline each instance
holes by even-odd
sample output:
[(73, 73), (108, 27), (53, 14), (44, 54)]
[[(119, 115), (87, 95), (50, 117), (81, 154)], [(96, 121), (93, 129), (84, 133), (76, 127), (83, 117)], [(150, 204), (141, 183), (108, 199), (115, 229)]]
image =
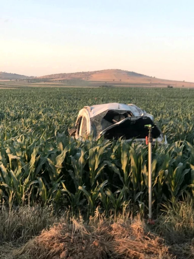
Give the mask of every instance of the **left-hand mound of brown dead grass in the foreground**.
[(25, 255), (43, 259), (106, 259), (105, 246), (95, 233), (90, 233), (82, 224), (58, 224), (43, 230), (41, 235), (30, 240), (13, 254), (13, 258)]

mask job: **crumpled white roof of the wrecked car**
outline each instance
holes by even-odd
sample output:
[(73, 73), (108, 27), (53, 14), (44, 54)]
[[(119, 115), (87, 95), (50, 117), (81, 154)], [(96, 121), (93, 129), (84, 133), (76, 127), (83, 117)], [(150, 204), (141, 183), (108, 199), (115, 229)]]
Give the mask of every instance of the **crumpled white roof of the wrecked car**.
[(141, 116), (143, 114), (143, 111), (134, 104), (109, 103), (85, 106), (84, 108), (88, 110), (90, 118), (107, 110), (131, 111), (134, 116)]

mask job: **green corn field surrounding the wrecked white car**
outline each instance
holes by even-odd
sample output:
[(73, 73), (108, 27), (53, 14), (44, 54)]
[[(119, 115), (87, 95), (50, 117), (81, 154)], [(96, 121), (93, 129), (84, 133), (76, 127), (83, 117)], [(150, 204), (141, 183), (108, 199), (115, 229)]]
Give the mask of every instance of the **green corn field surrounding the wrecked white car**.
[(85, 105), (133, 103), (154, 115), (168, 145), (153, 148), (153, 206), (194, 195), (194, 90), (0, 89), (0, 201), (92, 214), (148, 205), (148, 147), (80, 142), (67, 134)]

